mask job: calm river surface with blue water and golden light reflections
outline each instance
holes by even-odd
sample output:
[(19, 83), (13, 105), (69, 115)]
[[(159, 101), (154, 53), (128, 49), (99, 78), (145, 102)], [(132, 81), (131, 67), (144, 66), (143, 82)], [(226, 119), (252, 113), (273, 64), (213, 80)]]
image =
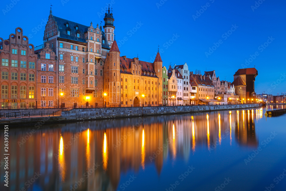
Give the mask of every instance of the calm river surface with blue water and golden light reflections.
[(286, 190), (285, 107), (10, 128), (0, 190)]

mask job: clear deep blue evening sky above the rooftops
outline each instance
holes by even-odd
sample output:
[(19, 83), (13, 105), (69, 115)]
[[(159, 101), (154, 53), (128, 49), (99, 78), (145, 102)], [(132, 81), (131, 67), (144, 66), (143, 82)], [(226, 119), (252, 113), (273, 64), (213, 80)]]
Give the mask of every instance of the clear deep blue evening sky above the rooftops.
[(50, 3), (53, 15), (88, 26), (91, 21), (94, 25), (103, 21), (102, 13), (110, 3), (121, 56), (134, 58), (138, 54), (140, 60), (153, 62), (160, 45), (163, 66), (186, 62), (190, 71), (216, 70), (220, 79), (231, 82), (239, 68), (255, 65), (258, 94), (286, 92), (285, 1), (1, 2), (3, 39), (21, 27), (25, 36), (33, 36), (29, 43), (43, 44), (43, 23), (49, 16)]

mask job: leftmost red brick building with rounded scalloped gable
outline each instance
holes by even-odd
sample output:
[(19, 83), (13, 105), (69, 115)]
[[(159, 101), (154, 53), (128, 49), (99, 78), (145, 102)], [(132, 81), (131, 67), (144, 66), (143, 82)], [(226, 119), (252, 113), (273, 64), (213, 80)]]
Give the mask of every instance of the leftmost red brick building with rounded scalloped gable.
[(36, 103), (36, 63), (34, 46), (20, 27), (9, 39), (0, 38), (1, 106), (33, 107)]

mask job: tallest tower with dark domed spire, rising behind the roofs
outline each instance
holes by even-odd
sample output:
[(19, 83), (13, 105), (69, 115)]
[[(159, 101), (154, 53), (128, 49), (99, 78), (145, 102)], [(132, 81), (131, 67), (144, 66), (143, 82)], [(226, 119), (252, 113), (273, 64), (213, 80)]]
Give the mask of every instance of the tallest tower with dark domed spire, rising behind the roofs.
[(112, 15), (112, 11), (110, 13), (110, 8), (108, 6), (108, 13), (105, 13), (105, 17), (104, 17), (104, 36), (106, 37), (109, 47), (111, 47), (113, 41), (114, 41), (114, 26), (113, 26), (113, 15)]

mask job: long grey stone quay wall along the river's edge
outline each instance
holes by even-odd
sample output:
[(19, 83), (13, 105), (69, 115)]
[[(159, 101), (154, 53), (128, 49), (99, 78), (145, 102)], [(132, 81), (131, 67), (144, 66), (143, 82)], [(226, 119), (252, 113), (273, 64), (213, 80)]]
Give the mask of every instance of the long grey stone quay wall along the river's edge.
[[(262, 104), (144, 107), (143, 113), (144, 116), (174, 115), (174, 114), (185, 114), (185, 113), (248, 109), (261, 106)], [(118, 110), (125, 112), (122, 113), (119, 112)], [(133, 111), (135, 112), (132, 113)], [(72, 109), (70, 111), (62, 111), (62, 116), (1, 119), (0, 125), (2, 127), (4, 127), (4, 125), (9, 125), (9, 127), (34, 126), (38, 128), (43, 126), (44, 124), (46, 125), (46, 124), (57, 124), (57, 123), (67, 123), (76, 121), (109, 120), (109, 119), (131, 118), (131, 117), (142, 117), (142, 107), (97, 108), (97, 109), (78, 108), (78, 109)]]

